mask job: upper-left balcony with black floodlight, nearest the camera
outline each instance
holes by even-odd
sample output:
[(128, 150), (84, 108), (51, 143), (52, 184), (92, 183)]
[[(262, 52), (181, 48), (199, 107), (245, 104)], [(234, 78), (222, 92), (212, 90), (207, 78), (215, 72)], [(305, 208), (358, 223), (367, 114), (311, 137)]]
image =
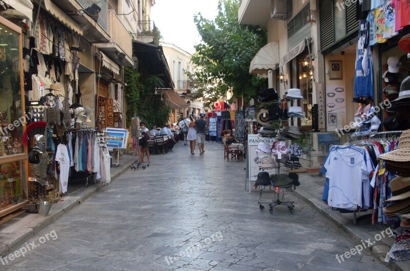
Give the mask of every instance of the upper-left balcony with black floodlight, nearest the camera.
[[(107, 0), (45, 0), (52, 2), (83, 30), (83, 37), (89, 43), (107, 43)], [(95, 4), (93, 6), (93, 4)], [(94, 9), (94, 8), (99, 8)], [(52, 10), (49, 10), (53, 14)]]

